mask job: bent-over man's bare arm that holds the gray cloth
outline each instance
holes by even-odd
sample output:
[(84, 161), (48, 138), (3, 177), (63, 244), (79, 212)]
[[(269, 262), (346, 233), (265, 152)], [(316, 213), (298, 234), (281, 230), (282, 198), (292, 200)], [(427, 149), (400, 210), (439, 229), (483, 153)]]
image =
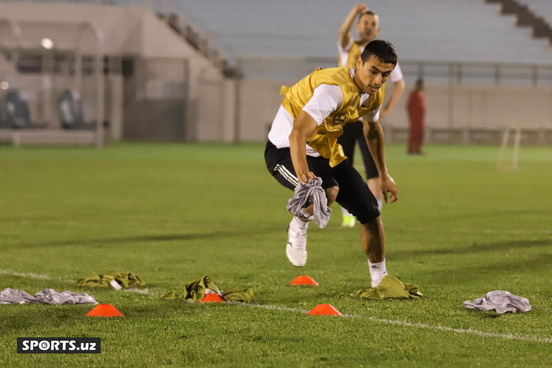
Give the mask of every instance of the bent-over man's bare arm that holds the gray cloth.
[(291, 162), (299, 182), (308, 183), (309, 178), (316, 179), (316, 175), (309, 171), (307, 164), (307, 137), (318, 127), (316, 120), (301, 111), (299, 118), (295, 121), (291, 134), (289, 135), (289, 150), (291, 152)]

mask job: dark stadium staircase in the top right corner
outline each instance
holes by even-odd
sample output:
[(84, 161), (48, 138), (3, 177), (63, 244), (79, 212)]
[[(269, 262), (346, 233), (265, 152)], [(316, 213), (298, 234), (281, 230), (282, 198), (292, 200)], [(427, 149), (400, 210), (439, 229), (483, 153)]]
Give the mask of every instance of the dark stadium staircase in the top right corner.
[(522, 4), (518, 0), (484, 1), (486, 3), (498, 3), (500, 6), (500, 14), (514, 15), (516, 26), (530, 27), (533, 38), (547, 39), (548, 47), (552, 47), (552, 27), (546, 17), (540, 17), (535, 14), (531, 4)]

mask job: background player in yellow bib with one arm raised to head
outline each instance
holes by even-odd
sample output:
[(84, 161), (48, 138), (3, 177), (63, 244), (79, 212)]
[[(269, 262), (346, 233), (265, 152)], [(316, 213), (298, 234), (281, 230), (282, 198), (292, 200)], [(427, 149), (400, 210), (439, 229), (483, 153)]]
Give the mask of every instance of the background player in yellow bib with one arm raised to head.
[[(358, 32), (358, 40), (353, 39), (351, 28), (353, 28), (354, 20), (358, 17), (355, 28)], [(343, 21), (341, 29), (339, 29), (339, 41), (337, 49), (339, 51), (339, 66), (346, 68), (354, 68), (357, 59), (362, 54), (364, 47), (368, 42), (375, 40), (380, 31), (379, 17), (377, 14), (368, 10), (364, 4), (357, 4), (347, 15)], [(389, 77), (389, 82), (393, 83), (393, 92), (388, 103), (381, 109), (380, 118), (385, 118), (401, 98), (405, 90), (405, 82), (402, 79), (402, 72), (399, 64), (395, 66)], [(383, 196), (381, 195), (380, 179), (378, 169), (374, 159), (372, 158), (368, 146), (365, 143), (362, 133), (362, 121), (349, 122), (343, 127), (343, 135), (339, 137), (338, 143), (343, 147), (345, 156), (349, 158), (351, 164), (354, 164), (354, 145), (358, 141), (360, 152), (366, 169), (366, 178), (368, 179), (368, 187), (378, 200), (379, 210), (383, 204)], [(342, 226), (354, 226), (354, 217), (342, 207), (343, 223)]]

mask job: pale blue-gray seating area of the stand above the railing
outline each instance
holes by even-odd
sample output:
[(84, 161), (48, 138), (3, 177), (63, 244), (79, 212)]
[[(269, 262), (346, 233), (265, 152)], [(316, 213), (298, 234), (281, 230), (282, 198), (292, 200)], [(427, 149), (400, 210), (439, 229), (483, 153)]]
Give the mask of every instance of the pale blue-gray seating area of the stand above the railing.
[[(552, 1), (524, 0), (550, 14)], [(334, 56), (339, 26), (357, 0), (187, 0), (186, 13), (221, 41), (234, 57)], [(514, 26), (482, 0), (371, 0), (380, 15), (379, 38), (396, 46), (401, 58), (435, 61), (546, 63), (546, 40)], [(247, 9), (247, 11), (245, 11)], [(256, 14), (252, 16), (251, 14)], [(544, 15), (544, 13), (543, 13)]]

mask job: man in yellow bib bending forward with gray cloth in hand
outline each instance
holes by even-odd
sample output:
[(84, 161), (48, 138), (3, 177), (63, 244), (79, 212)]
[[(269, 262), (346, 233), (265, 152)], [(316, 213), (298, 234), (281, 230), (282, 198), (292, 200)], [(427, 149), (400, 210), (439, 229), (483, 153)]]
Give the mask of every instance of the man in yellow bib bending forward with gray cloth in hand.
[[(387, 274), (385, 232), (378, 201), (344, 155), (337, 138), (343, 134), (344, 125), (364, 116), (364, 138), (381, 178), (382, 194), (386, 202), (388, 198), (395, 202), (399, 194), (385, 166), (379, 111), (384, 83), (396, 63), (395, 47), (376, 40), (365, 47), (354, 68), (319, 68), (293, 87), (282, 87), (284, 99), (264, 151), (267, 168), (280, 184), (294, 190), (298, 182), (320, 177), (328, 206), (337, 201), (357, 218), (373, 287)], [(312, 218), (312, 206), (306, 211)], [(288, 227), (286, 255), (298, 267), (307, 260), (308, 225), (309, 220), (294, 216)]]

